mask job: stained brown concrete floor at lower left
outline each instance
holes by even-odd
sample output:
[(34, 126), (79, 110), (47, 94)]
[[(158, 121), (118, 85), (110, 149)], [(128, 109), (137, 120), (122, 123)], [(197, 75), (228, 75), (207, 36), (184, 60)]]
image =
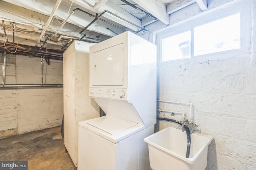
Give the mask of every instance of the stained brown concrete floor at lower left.
[(26, 160), (28, 170), (76, 170), (60, 127), (0, 139), (0, 160)]

